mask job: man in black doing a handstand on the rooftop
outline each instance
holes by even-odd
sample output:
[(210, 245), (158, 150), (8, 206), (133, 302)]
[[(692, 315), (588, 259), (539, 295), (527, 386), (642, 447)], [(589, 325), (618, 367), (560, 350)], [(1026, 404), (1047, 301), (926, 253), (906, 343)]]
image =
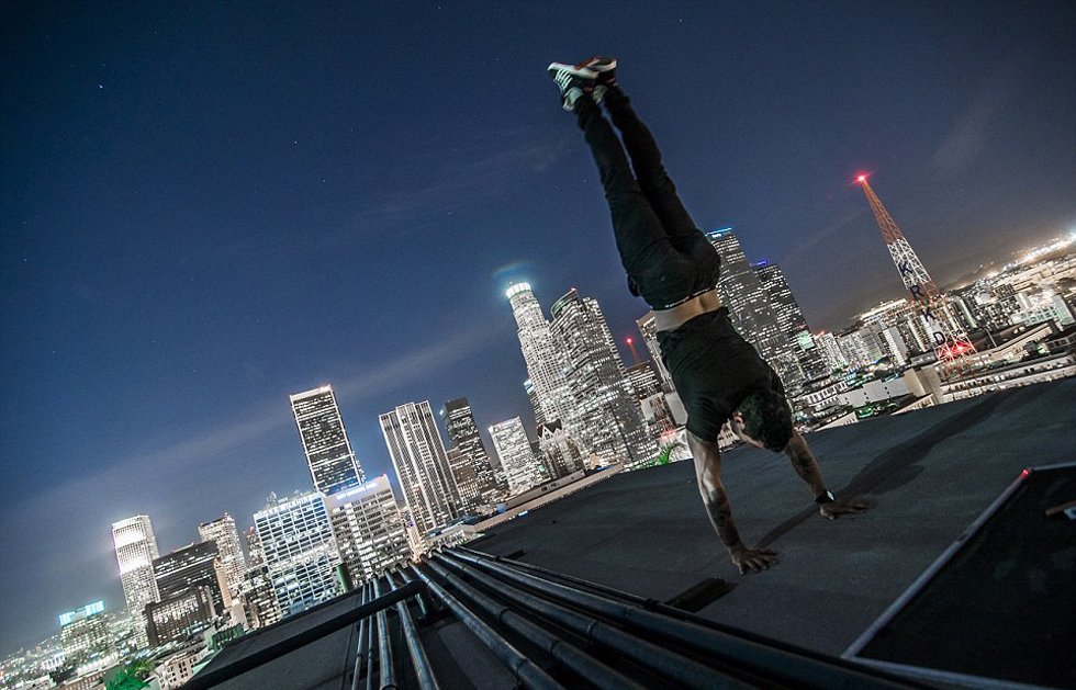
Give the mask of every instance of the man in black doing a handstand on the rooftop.
[[(822, 516), (862, 512), (871, 504), (839, 500), (827, 490), (807, 441), (793, 427), (781, 378), (732, 328), (716, 291), (717, 250), (687, 215), (653, 136), (617, 87), (616, 60), (553, 63), (549, 73), (601, 172), (628, 287), (653, 308), (662, 360), (687, 409), (687, 444), (706, 512), (740, 573), (764, 570), (777, 554), (740, 541), (721, 484), (717, 437), (726, 421), (744, 442), (787, 454)], [(623, 148), (598, 102), (620, 131)]]

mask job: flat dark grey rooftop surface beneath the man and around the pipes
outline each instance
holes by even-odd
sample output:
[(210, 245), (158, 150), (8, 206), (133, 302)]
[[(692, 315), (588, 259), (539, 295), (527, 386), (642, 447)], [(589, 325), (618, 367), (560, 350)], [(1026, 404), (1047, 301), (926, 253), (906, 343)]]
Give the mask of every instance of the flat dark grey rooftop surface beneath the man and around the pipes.
[[(834, 493), (876, 502), (862, 516), (837, 521), (818, 514), (784, 455), (753, 448), (725, 453), (722, 477), (744, 542), (776, 548), (782, 558), (761, 574), (741, 576), (733, 568), (706, 519), (690, 462), (619, 474), (498, 525), (469, 546), (662, 601), (707, 578), (724, 578), (735, 586), (698, 615), (838, 657), (1024, 467), (1076, 460), (1074, 400), (1076, 380), (1068, 378), (808, 436)], [(1066, 567), (1072, 570), (1073, 563)], [(242, 661), (358, 603), (352, 592), (257, 631), (206, 670)], [(945, 610), (960, 625), (960, 606)], [(1009, 613), (1033, 629), (1033, 611)], [(217, 687), (348, 687), (356, 627)], [(442, 688), (517, 687), (457, 620), (436, 617), (419, 634)], [(402, 649), (399, 627), (392, 636)], [(406, 654), (397, 654), (399, 686), (415, 687)]]

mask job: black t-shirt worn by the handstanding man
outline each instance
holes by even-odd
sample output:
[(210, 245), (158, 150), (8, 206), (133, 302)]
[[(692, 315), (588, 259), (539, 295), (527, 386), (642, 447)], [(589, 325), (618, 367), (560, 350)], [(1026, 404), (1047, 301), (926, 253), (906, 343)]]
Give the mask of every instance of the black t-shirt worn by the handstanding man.
[(687, 410), (687, 430), (717, 441), (721, 426), (751, 388), (784, 395), (781, 378), (732, 328), (721, 307), (696, 316), (675, 330), (658, 332), (661, 359)]

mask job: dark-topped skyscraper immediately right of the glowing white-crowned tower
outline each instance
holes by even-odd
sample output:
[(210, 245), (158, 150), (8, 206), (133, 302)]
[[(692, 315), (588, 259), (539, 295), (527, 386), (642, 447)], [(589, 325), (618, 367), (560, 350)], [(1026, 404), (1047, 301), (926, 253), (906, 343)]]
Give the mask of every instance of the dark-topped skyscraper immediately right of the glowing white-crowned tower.
[(647, 432), (642, 409), (597, 301), (572, 289), (553, 304), (551, 313), (550, 330), (565, 354), (567, 378), (575, 400), (573, 418), (583, 448), (605, 465), (646, 464), (658, 449)]

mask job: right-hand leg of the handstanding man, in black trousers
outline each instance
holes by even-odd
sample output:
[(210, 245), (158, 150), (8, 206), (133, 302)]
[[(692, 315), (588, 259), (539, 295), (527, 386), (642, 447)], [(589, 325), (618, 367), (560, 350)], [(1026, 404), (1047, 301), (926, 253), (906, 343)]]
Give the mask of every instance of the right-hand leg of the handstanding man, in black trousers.
[(631, 166), (639, 186), (665, 227), (673, 247), (695, 258), (696, 261), (717, 261), (716, 251), (709, 240), (698, 230), (687, 210), (684, 208), (676, 193), (676, 186), (661, 162), (658, 143), (631, 108), (631, 101), (618, 86), (613, 84), (606, 90), (605, 105), (613, 124), (624, 136), (624, 146), (631, 157)]

